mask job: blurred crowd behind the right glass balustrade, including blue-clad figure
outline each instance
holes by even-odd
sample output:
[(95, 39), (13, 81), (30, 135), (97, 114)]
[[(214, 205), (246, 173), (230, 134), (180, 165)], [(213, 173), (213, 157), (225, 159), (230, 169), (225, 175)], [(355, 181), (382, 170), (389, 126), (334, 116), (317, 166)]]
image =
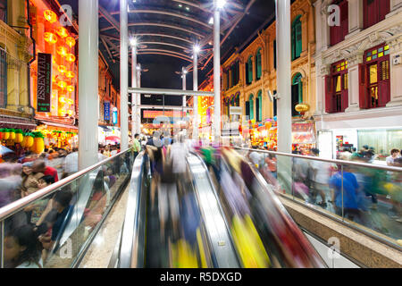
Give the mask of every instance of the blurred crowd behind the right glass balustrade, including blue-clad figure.
[[(320, 151), (312, 148), (293, 153), (318, 157)], [(366, 167), (292, 157), (289, 186), (283, 182), (286, 179), (277, 180), (277, 167), (281, 166), (281, 159), (284, 162), (283, 158), (258, 152), (257, 147), (247, 157), (278, 191), (344, 215), (393, 239), (402, 238), (402, 172), (381, 170), (371, 164), (376, 157), (372, 147), (364, 146), (358, 151), (345, 148), (339, 153), (341, 160), (371, 164)], [(402, 167), (400, 150), (391, 149), (386, 162)]]

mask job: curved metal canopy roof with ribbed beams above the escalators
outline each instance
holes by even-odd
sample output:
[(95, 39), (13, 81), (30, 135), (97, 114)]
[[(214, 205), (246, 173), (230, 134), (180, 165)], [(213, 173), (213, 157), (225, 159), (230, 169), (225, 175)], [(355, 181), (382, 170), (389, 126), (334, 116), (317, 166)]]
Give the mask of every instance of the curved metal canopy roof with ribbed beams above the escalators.
[[(192, 70), (192, 47), (199, 44), (199, 66), (212, 57), (214, 15), (212, 0), (129, 0), (129, 34), (138, 38), (138, 55), (167, 55), (187, 61)], [(222, 13), (222, 38), (227, 38), (255, 0), (229, 0)], [(99, 1), (102, 45), (113, 63), (120, 54), (119, 1)]]

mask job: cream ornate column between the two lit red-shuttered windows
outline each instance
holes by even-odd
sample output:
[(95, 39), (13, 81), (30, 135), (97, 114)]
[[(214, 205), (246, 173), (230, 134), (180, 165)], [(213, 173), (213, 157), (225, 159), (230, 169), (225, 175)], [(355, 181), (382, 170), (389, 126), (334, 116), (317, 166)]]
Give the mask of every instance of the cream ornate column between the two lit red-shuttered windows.
[(356, 112), (360, 110), (360, 80), (359, 80), (359, 64), (363, 63), (363, 51), (356, 51), (354, 55), (349, 56), (348, 61), (348, 108), (346, 113)]

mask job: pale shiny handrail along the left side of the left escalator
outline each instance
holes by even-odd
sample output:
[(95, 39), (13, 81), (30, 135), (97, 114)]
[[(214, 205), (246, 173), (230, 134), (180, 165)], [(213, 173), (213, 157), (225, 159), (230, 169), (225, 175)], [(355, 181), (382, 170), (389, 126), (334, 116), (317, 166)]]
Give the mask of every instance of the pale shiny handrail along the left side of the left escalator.
[(143, 266), (143, 259), (138, 259), (138, 257), (141, 257), (140, 252), (143, 252), (144, 249), (138, 249), (138, 240), (141, 196), (144, 196), (142, 194), (142, 177), (145, 162), (146, 156), (143, 151), (138, 154), (131, 172), (129, 198), (127, 200), (126, 214), (121, 231), (119, 268), (131, 268), (133, 259), (137, 261), (136, 267)]

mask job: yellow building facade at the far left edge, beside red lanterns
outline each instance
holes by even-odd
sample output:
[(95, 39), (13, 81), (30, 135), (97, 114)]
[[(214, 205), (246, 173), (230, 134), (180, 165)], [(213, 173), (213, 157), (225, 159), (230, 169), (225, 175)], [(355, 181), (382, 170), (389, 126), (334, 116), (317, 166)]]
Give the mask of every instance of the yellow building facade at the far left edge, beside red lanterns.
[(24, 0), (2, 4), (0, 15), (0, 126), (35, 127), (29, 100), (29, 61), (33, 58)]

